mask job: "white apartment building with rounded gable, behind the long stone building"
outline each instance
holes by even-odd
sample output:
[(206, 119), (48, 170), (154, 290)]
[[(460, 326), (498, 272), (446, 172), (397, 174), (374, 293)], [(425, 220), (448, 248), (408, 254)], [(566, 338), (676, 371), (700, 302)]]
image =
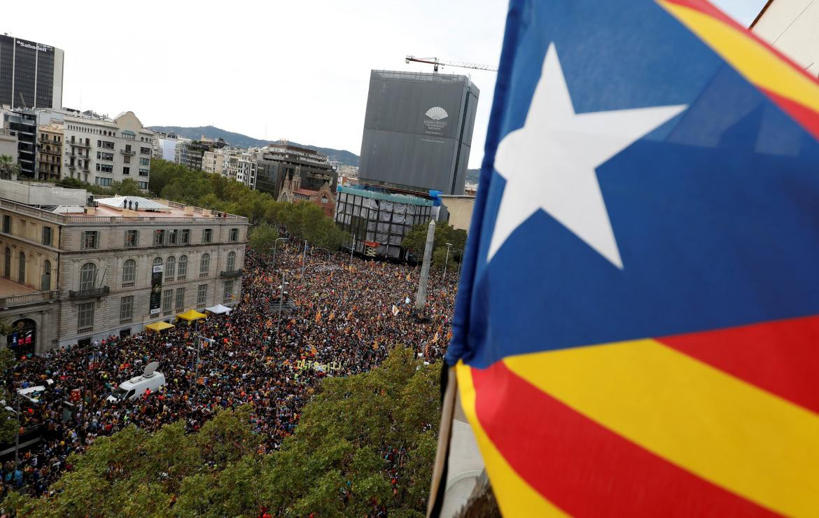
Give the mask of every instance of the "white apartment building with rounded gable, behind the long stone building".
[(66, 115), (63, 125), (63, 178), (102, 187), (133, 179), (140, 189), (148, 188), (153, 132), (143, 127), (133, 111), (114, 119)]

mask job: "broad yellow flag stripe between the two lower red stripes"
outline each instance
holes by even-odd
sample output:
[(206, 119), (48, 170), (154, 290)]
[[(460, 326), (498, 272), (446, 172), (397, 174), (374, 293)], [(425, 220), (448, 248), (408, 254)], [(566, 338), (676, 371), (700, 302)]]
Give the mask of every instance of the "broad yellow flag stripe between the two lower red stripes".
[(819, 416), (803, 407), (651, 339), (504, 362), (677, 466), (781, 513), (819, 516)]

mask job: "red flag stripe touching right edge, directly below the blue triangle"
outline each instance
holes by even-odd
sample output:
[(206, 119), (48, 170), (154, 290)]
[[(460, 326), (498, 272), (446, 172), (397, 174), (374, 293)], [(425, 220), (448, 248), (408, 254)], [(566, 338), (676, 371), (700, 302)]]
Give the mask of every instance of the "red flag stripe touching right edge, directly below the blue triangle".
[(819, 316), (678, 334), (657, 341), (819, 412)]

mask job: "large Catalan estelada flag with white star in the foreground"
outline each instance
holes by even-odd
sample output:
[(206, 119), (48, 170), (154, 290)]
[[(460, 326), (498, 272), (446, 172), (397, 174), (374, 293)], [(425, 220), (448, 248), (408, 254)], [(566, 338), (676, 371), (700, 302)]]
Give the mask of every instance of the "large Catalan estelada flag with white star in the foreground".
[(819, 516), (819, 86), (704, 0), (513, 0), (446, 360), (505, 516)]

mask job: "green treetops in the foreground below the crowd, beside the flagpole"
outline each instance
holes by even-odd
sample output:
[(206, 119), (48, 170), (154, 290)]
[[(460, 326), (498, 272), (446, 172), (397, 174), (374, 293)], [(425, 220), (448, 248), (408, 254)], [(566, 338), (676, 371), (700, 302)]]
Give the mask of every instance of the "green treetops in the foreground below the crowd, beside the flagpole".
[[(197, 433), (129, 426), (98, 438), (52, 498), (10, 493), (17, 516), (423, 516), (437, 445), (437, 366), (394, 348), (378, 369), (324, 379), (282, 448), (263, 454), (252, 407), (220, 411)], [(391, 484), (387, 449), (400, 457)]]

